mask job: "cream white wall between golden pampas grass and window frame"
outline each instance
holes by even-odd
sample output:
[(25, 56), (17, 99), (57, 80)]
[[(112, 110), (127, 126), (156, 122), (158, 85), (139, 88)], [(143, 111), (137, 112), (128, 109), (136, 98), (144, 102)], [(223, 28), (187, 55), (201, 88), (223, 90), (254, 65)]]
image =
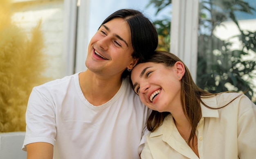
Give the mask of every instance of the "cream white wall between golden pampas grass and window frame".
[(48, 57), (45, 76), (61, 78), (65, 76), (63, 60), (63, 0), (14, 0), (13, 22), (30, 33), (31, 28), (42, 20), (45, 39), (44, 52)]

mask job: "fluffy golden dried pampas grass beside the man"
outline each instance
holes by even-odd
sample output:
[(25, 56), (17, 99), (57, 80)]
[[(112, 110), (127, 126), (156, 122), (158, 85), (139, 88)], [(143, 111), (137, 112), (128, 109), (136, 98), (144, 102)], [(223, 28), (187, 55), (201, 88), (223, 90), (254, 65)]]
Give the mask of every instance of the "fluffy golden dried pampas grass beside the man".
[(0, 1), (0, 132), (25, 131), (25, 111), (32, 88), (49, 80), (41, 22), (31, 38), (11, 22), (11, 3)]

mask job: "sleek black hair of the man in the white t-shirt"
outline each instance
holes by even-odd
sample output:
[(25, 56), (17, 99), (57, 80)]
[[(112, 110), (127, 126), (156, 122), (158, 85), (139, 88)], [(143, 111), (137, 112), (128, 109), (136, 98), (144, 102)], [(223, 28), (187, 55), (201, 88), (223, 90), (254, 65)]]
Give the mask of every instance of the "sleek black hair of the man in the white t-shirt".
[[(150, 57), (158, 45), (157, 31), (153, 23), (140, 11), (121, 9), (108, 16), (101, 25), (117, 17), (124, 19), (130, 26), (132, 47), (134, 50), (132, 57), (139, 58), (138, 63)], [(122, 78), (126, 77), (128, 74), (129, 72), (125, 70), (122, 74)]]

